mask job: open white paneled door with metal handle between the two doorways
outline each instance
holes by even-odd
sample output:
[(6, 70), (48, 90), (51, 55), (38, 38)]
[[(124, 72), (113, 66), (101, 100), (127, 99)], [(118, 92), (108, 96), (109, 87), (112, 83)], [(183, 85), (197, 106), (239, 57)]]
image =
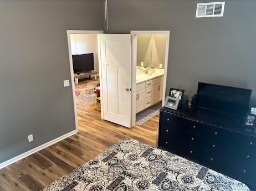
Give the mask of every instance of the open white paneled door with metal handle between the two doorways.
[(100, 34), (104, 120), (131, 127), (131, 35)]

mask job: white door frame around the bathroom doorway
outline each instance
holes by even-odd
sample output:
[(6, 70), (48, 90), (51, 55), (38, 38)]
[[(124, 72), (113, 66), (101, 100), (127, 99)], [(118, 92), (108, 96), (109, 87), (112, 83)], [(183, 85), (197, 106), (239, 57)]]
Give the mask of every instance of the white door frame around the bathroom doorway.
[(136, 66), (137, 66), (137, 34), (165, 34), (166, 35), (166, 50), (165, 50), (165, 69), (163, 74), (163, 96), (162, 107), (165, 105), (165, 92), (167, 81), (168, 55), (170, 45), (170, 30), (131, 30), (132, 35), (132, 110), (131, 110), (131, 125), (136, 125)]

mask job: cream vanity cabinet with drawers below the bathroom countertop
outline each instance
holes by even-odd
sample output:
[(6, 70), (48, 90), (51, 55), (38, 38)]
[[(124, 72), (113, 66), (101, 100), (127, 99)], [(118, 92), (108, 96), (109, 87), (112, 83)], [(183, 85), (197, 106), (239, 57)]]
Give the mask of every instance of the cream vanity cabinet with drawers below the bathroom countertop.
[(163, 76), (136, 85), (136, 113), (162, 100)]

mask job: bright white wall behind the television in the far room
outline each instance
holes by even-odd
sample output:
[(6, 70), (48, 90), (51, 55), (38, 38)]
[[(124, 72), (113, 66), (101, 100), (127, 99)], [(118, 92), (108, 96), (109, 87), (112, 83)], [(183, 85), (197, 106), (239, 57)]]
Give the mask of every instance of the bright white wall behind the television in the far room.
[(71, 34), (71, 53), (94, 55), (94, 70), (99, 74), (97, 34)]

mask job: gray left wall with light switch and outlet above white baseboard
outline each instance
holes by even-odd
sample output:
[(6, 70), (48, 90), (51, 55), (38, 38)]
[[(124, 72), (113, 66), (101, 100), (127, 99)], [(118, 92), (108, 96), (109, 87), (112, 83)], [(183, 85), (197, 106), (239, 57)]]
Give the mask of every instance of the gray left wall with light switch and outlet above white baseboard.
[(75, 130), (66, 30), (102, 30), (103, 3), (0, 0), (0, 163)]

